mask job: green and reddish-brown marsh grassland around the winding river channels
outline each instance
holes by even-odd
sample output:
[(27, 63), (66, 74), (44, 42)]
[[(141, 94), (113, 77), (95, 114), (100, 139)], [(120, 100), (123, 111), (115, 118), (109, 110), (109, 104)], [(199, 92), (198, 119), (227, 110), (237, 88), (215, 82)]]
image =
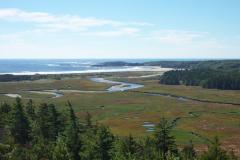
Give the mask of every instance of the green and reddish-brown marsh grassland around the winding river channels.
[[(200, 87), (159, 85), (156, 78), (124, 78), (156, 73), (108, 73), (100, 76), (144, 84), (138, 91), (170, 93), (198, 99), (240, 103), (240, 91), (220, 91)], [(118, 77), (118, 78), (116, 78)], [(119, 78), (120, 77), (120, 78)], [(59, 110), (65, 109), (70, 100), (77, 115), (84, 119), (86, 111), (94, 121), (109, 125), (120, 136), (130, 133), (134, 136), (151, 135), (142, 126), (144, 122), (157, 124), (161, 117), (178, 119), (173, 135), (179, 145), (190, 139), (199, 150), (206, 148), (208, 139), (219, 136), (224, 147), (240, 153), (240, 106), (229, 104), (203, 103), (177, 98), (152, 96), (131, 91), (114, 93), (66, 93), (61, 98), (51, 95), (28, 93), (24, 90), (80, 89), (104, 90), (110, 85), (95, 83), (86, 77), (63, 80), (39, 80), (34, 82), (0, 83), (2, 93), (19, 93), (24, 101), (32, 98), (35, 104), (52, 102)], [(0, 95), (0, 101), (12, 103), (14, 98)]]

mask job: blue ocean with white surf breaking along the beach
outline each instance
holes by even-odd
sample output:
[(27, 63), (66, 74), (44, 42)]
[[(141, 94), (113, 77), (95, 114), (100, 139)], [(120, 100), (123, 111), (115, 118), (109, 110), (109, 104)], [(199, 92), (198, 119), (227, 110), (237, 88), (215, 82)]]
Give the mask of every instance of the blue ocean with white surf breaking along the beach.
[(139, 67), (95, 67), (102, 62), (146, 62), (151, 59), (1, 59), (0, 74), (66, 74), (137, 70)]

